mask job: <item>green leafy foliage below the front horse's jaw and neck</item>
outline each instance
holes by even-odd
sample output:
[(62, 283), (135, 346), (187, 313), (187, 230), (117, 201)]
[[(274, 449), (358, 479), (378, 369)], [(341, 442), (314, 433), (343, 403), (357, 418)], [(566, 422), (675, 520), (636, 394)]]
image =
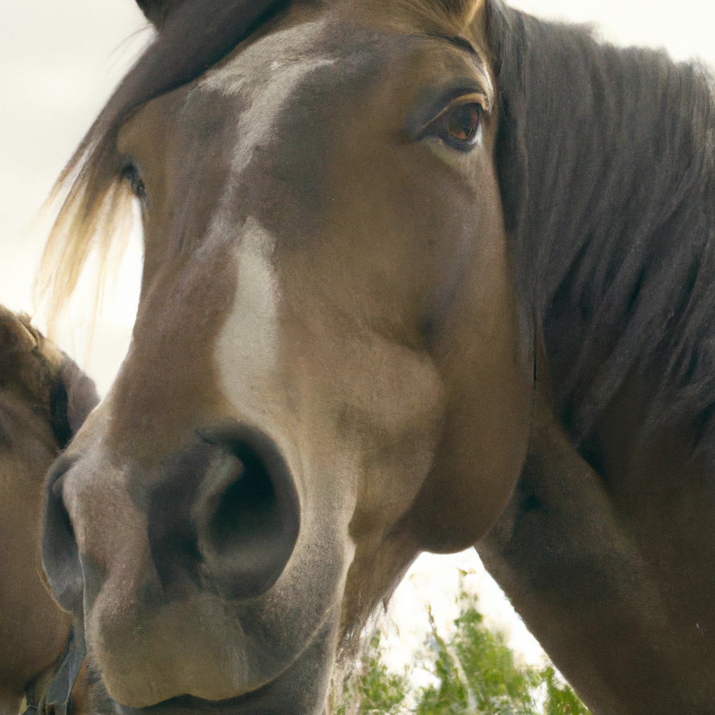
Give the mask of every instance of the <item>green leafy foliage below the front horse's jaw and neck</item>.
[(476, 596), (460, 594), (460, 616), (445, 640), (429, 613), (426, 645), (438, 684), (416, 689), (408, 674), (388, 671), (380, 633), (358, 670), (343, 683), (335, 715), (589, 715), (553, 666), (518, 666), (501, 633), (483, 623)]

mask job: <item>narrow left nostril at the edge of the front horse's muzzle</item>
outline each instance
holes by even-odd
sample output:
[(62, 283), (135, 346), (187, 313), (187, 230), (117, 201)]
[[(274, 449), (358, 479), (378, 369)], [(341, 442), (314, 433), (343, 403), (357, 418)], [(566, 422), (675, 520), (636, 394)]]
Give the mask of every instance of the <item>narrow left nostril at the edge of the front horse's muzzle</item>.
[(62, 501), (64, 475), (72, 461), (60, 457), (47, 475), (42, 518), (41, 558), (47, 583), (66, 611), (73, 611), (82, 598), (82, 566), (69, 513)]

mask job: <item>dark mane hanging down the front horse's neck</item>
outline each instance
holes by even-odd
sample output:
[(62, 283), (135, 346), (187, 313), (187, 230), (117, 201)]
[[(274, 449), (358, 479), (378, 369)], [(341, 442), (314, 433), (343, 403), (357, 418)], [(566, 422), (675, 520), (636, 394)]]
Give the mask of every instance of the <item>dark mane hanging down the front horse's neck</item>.
[[(500, 172), (557, 413), (586, 440), (626, 375), (649, 421), (715, 412), (715, 92), (699, 64), (490, 3)], [(707, 437), (706, 440), (703, 438)]]

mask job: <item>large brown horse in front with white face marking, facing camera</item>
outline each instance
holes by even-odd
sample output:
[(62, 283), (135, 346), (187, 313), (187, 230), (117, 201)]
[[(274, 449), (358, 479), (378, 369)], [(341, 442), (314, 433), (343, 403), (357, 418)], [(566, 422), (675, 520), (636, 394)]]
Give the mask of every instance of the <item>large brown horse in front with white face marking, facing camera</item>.
[(139, 4), (46, 253), (141, 203), (43, 536), (117, 709), (319, 714), (477, 544), (594, 711), (715, 711), (709, 75), (501, 0)]

